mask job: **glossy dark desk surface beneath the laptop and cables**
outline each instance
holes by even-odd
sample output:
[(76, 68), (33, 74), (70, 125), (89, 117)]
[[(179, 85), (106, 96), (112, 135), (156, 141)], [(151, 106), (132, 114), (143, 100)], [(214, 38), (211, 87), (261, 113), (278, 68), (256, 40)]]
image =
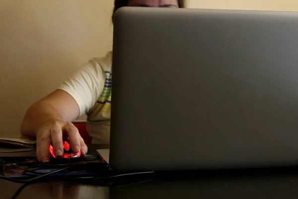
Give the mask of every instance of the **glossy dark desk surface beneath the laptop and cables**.
[[(98, 146), (89, 146), (90, 153)], [(93, 151), (94, 148), (94, 151)], [(17, 199), (297, 199), (298, 168), (196, 173), (125, 186), (42, 183), (27, 186)], [(0, 180), (0, 199), (21, 184)]]

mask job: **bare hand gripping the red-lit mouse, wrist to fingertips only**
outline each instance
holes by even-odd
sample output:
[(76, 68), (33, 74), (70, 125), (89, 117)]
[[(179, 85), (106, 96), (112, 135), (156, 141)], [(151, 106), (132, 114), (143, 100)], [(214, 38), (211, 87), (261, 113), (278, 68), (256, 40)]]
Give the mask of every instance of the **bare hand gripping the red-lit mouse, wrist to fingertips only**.
[(49, 162), (49, 147), (52, 142), (56, 157), (63, 155), (63, 137), (68, 137), (74, 152), (81, 151), (82, 157), (87, 153), (87, 146), (77, 128), (71, 122), (54, 120), (46, 122), (37, 133), (36, 157), (38, 161)]

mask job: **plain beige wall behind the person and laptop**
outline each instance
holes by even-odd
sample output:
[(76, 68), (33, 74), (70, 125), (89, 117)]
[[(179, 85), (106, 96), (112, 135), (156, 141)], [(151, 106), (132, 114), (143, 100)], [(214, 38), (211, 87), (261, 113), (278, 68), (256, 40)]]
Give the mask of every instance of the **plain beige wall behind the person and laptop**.
[[(113, 0), (0, 0), (0, 135), (30, 104), (111, 49)], [(189, 0), (189, 7), (291, 10), (298, 0)]]

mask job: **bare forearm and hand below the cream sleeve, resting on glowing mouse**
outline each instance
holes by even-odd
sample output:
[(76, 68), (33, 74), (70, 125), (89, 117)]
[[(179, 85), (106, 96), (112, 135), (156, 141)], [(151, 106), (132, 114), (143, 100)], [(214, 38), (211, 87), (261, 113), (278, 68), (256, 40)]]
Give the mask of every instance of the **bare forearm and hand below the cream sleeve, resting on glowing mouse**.
[(55, 156), (63, 154), (63, 135), (69, 137), (74, 152), (81, 150), (82, 156), (86, 154), (87, 147), (83, 139), (77, 128), (70, 123), (78, 115), (76, 101), (62, 90), (56, 90), (27, 110), (21, 124), (21, 133), (36, 138), (36, 157), (39, 161), (49, 161), (51, 142)]

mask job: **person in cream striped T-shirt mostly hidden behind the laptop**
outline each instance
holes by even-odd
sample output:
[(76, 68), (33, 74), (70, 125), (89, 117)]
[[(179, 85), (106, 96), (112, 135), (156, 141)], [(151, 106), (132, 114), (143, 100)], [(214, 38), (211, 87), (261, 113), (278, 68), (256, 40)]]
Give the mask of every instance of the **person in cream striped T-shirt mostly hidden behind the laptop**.
[[(184, 7), (184, 0), (115, 0), (115, 11), (122, 6)], [(111, 107), (111, 59), (94, 58), (77, 70), (56, 91), (34, 103), (26, 112), (21, 133), (36, 138), (38, 161), (50, 160), (52, 141), (55, 156), (63, 154), (62, 137), (70, 139), (74, 152), (84, 157), (87, 147), (71, 123), (87, 114), (87, 130), (93, 143), (109, 143)]]

